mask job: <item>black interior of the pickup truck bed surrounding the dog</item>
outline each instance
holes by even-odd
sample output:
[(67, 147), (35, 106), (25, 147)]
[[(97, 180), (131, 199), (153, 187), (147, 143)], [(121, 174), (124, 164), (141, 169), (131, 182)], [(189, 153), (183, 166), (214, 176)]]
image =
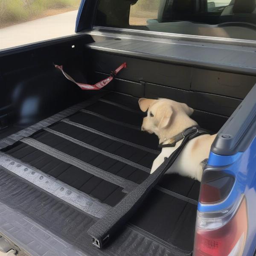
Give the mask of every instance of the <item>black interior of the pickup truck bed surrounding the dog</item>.
[[(80, 255), (191, 255), (200, 183), (176, 174), (165, 175), (104, 249), (93, 246), (87, 230), (148, 177), (160, 153), (157, 137), (140, 131), (145, 114), (138, 106), (140, 97), (185, 102), (195, 109), (192, 118), (216, 133), (256, 77), (249, 71), (231, 72), (227, 65), (177, 63), (134, 50), (128, 54), (117, 49), (123, 47), (122, 37), (81, 34), (0, 56), (0, 81), (6, 84), (0, 108), (0, 209), (10, 207), (0, 210), (0, 216), (13, 210), (62, 239), (63, 251), (52, 246), (59, 255), (75, 255), (67, 253), (65, 243)], [(206, 47), (212, 45), (202, 50)], [(157, 42), (152, 41), (152, 48)], [(127, 68), (96, 93), (81, 91), (52, 65), (94, 83), (123, 62)], [(12, 229), (7, 232), (2, 225), (1, 233), (9, 237)], [(24, 244), (31, 242), (20, 237), (17, 245), (26, 250)]]

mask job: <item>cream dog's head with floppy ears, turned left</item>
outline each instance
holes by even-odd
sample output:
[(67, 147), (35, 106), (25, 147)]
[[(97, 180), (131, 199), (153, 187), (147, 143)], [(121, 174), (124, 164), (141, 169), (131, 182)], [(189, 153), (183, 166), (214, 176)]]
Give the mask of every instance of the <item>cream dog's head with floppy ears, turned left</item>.
[(191, 116), (193, 109), (185, 103), (175, 102), (171, 99), (145, 99), (139, 100), (140, 109), (148, 111), (143, 118), (142, 131), (159, 135), (164, 129), (168, 129), (175, 120), (175, 116)]

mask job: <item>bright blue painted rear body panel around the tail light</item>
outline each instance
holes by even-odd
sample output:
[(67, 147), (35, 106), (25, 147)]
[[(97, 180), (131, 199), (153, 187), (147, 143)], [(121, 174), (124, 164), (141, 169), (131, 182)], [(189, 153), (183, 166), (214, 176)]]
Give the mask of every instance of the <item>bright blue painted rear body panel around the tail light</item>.
[[(208, 164), (224, 166), (224, 172), (236, 177), (228, 197), (219, 204), (198, 204), (200, 212), (215, 212), (237, 203), (241, 195), (247, 200), (248, 233), (243, 256), (252, 256), (256, 248), (256, 138), (244, 152), (233, 156), (210, 153)], [(225, 167), (226, 166), (226, 167)]]

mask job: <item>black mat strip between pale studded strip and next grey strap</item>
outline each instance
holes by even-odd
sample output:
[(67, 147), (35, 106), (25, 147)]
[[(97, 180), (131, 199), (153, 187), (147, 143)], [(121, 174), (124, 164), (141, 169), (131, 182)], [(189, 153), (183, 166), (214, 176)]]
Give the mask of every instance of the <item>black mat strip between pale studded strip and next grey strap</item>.
[(90, 175), (25, 143), (20, 143), (6, 153), (110, 206), (116, 205), (125, 196), (121, 187)]

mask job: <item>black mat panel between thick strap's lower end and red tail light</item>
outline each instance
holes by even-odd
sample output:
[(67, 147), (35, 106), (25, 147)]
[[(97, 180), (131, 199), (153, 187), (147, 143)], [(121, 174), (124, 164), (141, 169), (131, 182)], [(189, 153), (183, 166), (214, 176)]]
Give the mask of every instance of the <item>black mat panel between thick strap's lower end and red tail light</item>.
[(154, 190), (131, 223), (178, 248), (193, 250), (196, 210), (196, 205)]

